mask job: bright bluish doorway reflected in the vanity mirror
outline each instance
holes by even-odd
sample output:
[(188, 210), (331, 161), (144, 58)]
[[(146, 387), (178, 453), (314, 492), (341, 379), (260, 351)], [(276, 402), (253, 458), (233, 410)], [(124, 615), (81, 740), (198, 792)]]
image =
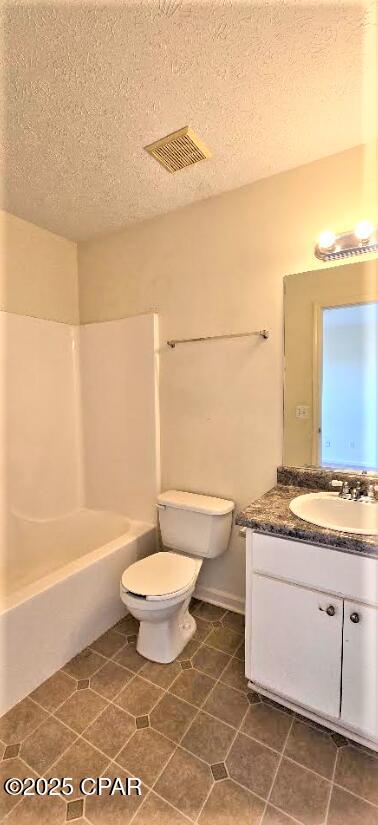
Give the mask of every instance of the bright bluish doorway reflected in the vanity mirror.
[(321, 310), (319, 464), (378, 466), (378, 301)]

